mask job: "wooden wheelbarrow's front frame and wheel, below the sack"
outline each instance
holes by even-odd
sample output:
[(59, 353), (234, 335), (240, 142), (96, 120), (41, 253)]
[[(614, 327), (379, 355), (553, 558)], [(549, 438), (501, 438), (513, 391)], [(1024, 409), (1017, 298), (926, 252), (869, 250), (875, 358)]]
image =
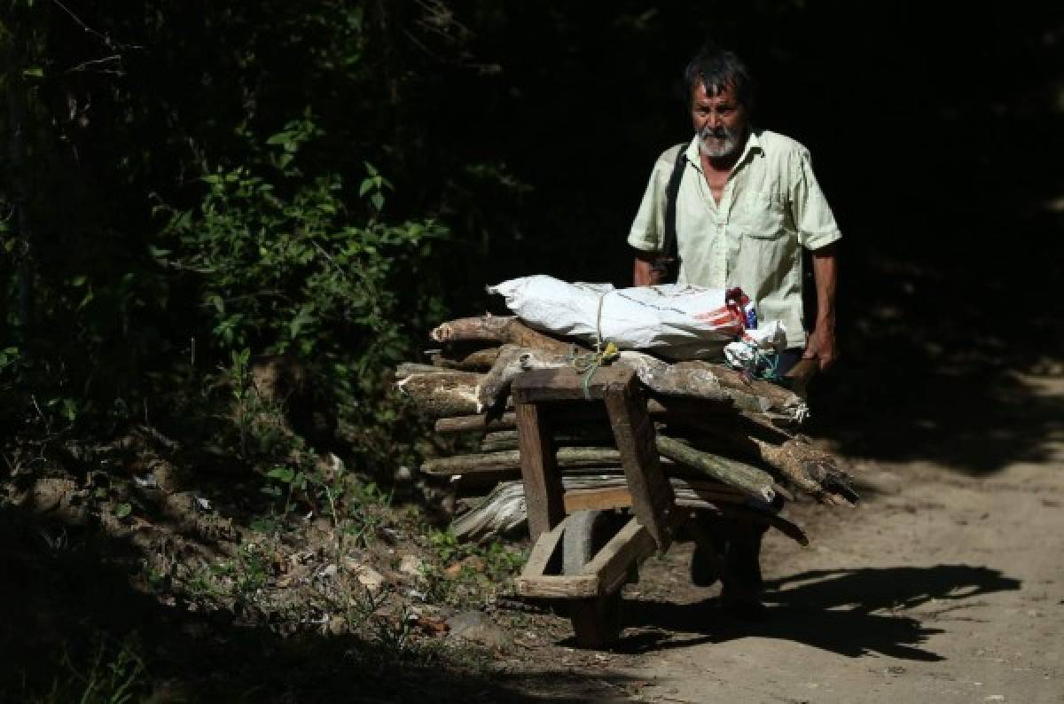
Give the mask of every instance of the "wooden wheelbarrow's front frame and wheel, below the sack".
[[(637, 579), (643, 560), (668, 549), (681, 514), (659, 466), (642, 387), (628, 369), (599, 368), (586, 381), (571, 369), (544, 369), (519, 374), (513, 396), (533, 540), (517, 593), (564, 601), (577, 642), (600, 648), (619, 635), (621, 587)], [(594, 502), (565, 492), (552, 441), (567, 422), (586, 421), (588, 403), (604, 405), (627, 483)], [(612, 510), (621, 507), (631, 515)]]

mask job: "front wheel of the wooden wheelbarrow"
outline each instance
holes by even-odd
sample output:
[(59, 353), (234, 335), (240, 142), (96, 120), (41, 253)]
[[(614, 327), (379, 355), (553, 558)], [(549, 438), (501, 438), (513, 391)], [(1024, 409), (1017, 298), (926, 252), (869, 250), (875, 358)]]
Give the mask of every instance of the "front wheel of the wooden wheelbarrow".
[[(579, 574), (622, 523), (612, 512), (581, 510), (569, 516), (562, 538), (562, 570)], [(569, 619), (582, 648), (602, 648), (620, 636), (620, 589), (605, 597), (575, 599), (569, 604)]]

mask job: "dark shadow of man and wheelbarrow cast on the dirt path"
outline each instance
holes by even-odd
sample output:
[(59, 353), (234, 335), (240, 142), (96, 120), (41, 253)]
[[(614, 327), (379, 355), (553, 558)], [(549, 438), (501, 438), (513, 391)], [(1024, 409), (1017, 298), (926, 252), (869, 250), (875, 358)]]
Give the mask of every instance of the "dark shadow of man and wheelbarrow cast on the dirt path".
[(766, 617), (755, 622), (730, 616), (715, 598), (693, 604), (630, 601), (626, 607), (630, 625), (662, 632), (633, 633), (622, 638), (617, 649), (646, 652), (755, 636), (793, 640), (847, 657), (878, 653), (900, 659), (941, 660), (943, 657), (927, 650), (925, 643), (944, 631), (903, 611), (931, 600), (950, 604), (942, 611), (960, 609), (964, 600), (1019, 589), (1020, 581), (985, 567), (938, 565), (813, 570), (777, 580), (767, 587)]

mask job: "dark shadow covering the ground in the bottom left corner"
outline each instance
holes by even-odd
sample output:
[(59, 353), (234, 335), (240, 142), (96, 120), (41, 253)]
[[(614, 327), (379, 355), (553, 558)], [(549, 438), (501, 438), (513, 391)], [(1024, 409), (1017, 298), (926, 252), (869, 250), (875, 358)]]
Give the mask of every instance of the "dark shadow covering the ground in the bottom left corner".
[(123, 650), (145, 667), (133, 701), (610, 701), (624, 680), (497, 676), (432, 649), (414, 655), (313, 626), (282, 637), (238, 613), (162, 603), (135, 586), (137, 554), (99, 526), (0, 509), (0, 702), (79, 701)]

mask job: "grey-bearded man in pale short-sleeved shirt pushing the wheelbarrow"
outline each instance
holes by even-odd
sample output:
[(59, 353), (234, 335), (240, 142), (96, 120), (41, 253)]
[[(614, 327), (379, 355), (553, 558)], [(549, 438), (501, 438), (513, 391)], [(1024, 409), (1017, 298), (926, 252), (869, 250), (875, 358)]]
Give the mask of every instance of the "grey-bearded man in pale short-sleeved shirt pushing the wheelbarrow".
[[(779, 373), (801, 357), (827, 369), (836, 354), (835, 242), (841, 234), (813, 175), (809, 150), (751, 127), (753, 81), (734, 53), (708, 45), (687, 65), (685, 78), (695, 136), (654, 164), (628, 236), (636, 251), (635, 285), (663, 283), (671, 264), (678, 265), (671, 275), (679, 283), (738, 286), (754, 302), (759, 320), (780, 320), (786, 328)], [(802, 248), (812, 252), (816, 287), (810, 332), (802, 305)], [(726, 584), (726, 602), (760, 606), (764, 531), (713, 527), (741, 587), (736, 592)], [(709, 564), (696, 550), (696, 584), (715, 581)]]

